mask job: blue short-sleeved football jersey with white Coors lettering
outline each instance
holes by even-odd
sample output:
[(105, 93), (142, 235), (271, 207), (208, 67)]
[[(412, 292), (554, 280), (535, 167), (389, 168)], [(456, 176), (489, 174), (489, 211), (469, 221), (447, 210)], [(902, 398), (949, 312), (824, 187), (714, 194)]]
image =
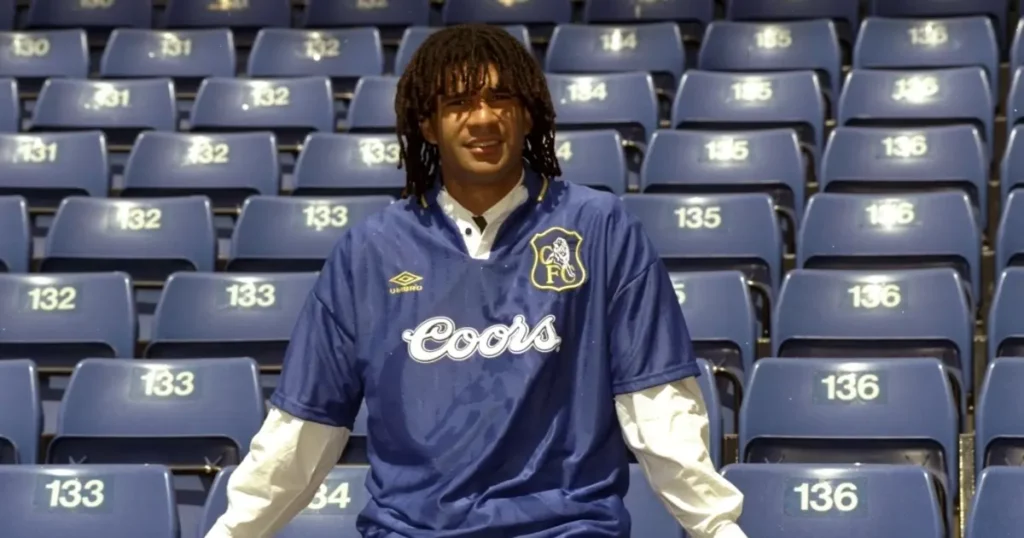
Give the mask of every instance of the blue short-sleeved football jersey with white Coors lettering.
[(489, 259), (439, 188), (349, 229), (271, 403), (352, 427), (366, 399), (366, 537), (615, 537), (616, 395), (697, 376), (665, 265), (618, 198), (525, 175)]

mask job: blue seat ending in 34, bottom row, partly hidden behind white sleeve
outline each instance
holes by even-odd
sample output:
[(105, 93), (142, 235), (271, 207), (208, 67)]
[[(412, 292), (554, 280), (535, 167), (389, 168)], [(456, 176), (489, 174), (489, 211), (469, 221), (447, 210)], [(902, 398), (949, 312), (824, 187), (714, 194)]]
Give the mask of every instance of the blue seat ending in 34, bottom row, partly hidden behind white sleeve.
[[(205, 535), (227, 510), (227, 481), (233, 466), (217, 473), (203, 509), (200, 536)], [(340, 465), (331, 469), (313, 500), (274, 538), (337, 538), (358, 536), (356, 516), (370, 501), (366, 489), (369, 468)]]

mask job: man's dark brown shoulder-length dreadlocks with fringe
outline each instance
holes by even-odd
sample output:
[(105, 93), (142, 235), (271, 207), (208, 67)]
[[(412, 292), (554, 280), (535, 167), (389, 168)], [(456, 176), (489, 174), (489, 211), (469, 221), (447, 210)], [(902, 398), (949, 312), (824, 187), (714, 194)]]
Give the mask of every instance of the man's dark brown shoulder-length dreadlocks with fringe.
[(494, 66), (502, 86), (519, 99), (532, 119), (523, 158), (546, 177), (561, 175), (555, 156), (555, 110), (547, 80), (537, 59), (500, 27), (460, 25), (440, 30), (417, 49), (406, 68), (394, 98), (398, 167), (406, 168), (403, 197), (421, 196), (433, 185), (440, 166), (437, 147), (427, 142), (420, 123), (436, 112), (437, 98), (447, 89), (480, 91)]

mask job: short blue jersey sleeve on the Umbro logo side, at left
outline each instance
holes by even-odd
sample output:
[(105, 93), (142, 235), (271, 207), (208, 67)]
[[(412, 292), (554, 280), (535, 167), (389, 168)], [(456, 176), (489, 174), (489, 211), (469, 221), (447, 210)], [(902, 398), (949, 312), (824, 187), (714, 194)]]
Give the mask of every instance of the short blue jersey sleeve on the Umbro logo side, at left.
[(285, 354), (270, 403), (312, 422), (351, 429), (362, 402), (348, 236), (321, 271)]

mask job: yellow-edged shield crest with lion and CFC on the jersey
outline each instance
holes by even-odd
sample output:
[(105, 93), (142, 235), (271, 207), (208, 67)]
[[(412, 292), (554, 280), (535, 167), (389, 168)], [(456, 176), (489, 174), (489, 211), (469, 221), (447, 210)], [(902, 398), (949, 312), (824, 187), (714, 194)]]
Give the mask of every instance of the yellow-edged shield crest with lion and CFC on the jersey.
[(529, 281), (541, 290), (566, 291), (583, 286), (587, 268), (580, 256), (583, 236), (563, 227), (549, 227), (529, 240), (534, 267)]

